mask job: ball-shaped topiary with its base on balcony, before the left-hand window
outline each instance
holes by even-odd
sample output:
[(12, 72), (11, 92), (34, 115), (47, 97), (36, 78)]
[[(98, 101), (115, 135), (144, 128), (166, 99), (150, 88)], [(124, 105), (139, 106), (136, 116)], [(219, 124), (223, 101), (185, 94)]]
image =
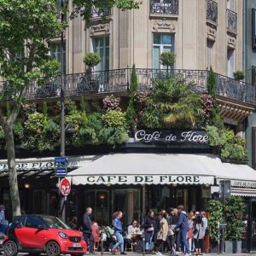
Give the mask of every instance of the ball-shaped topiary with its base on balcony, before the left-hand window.
[(99, 81), (96, 79), (96, 73), (93, 74), (94, 68), (101, 62), (101, 56), (97, 53), (90, 52), (84, 55), (84, 63), (87, 67), (85, 76), (81, 77), (78, 84), (79, 91), (92, 91), (96, 92), (99, 90)]

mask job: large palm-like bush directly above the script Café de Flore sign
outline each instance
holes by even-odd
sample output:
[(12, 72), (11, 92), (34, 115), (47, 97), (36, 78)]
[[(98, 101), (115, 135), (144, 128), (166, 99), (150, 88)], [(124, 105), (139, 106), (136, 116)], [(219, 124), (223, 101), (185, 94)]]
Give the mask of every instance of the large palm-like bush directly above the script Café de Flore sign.
[(195, 128), (201, 115), (201, 97), (179, 75), (154, 80), (140, 122), (148, 128)]

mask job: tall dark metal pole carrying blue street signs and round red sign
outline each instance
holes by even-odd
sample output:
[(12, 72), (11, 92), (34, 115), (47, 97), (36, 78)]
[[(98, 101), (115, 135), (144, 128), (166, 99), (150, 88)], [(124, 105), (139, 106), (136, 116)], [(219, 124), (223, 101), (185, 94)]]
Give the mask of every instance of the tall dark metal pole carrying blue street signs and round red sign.
[[(61, 23), (64, 21), (63, 0), (61, 0)], [(61, 157), (65, 157), (65, 78), (64, 78), (64, 32), (61, 32)], [(61, 218), (66, 221), (66, 201), (65, 197), (61, 198)]]

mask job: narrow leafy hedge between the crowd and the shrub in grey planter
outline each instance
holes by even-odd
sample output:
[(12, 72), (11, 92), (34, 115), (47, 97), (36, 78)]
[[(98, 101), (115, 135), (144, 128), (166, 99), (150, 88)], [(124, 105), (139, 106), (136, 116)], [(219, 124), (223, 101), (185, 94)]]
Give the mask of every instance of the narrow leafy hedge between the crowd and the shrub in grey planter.
[(218, 241), (218, 223), (223, 222), (223, 205), (220, 201), (210, 200), (207, 202), (209, 212), (208, 229), (212, 241)]

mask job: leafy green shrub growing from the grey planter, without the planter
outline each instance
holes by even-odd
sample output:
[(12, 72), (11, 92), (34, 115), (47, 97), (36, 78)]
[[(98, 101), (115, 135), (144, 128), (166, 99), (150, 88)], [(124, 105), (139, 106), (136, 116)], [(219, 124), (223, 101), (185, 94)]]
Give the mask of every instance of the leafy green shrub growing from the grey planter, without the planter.
[(224, 203), (224, 217), (227, 223), (226, 240), (240, 240), (243, 230), (242, 212), (245, 204), (241, 197), (230, 196)]

